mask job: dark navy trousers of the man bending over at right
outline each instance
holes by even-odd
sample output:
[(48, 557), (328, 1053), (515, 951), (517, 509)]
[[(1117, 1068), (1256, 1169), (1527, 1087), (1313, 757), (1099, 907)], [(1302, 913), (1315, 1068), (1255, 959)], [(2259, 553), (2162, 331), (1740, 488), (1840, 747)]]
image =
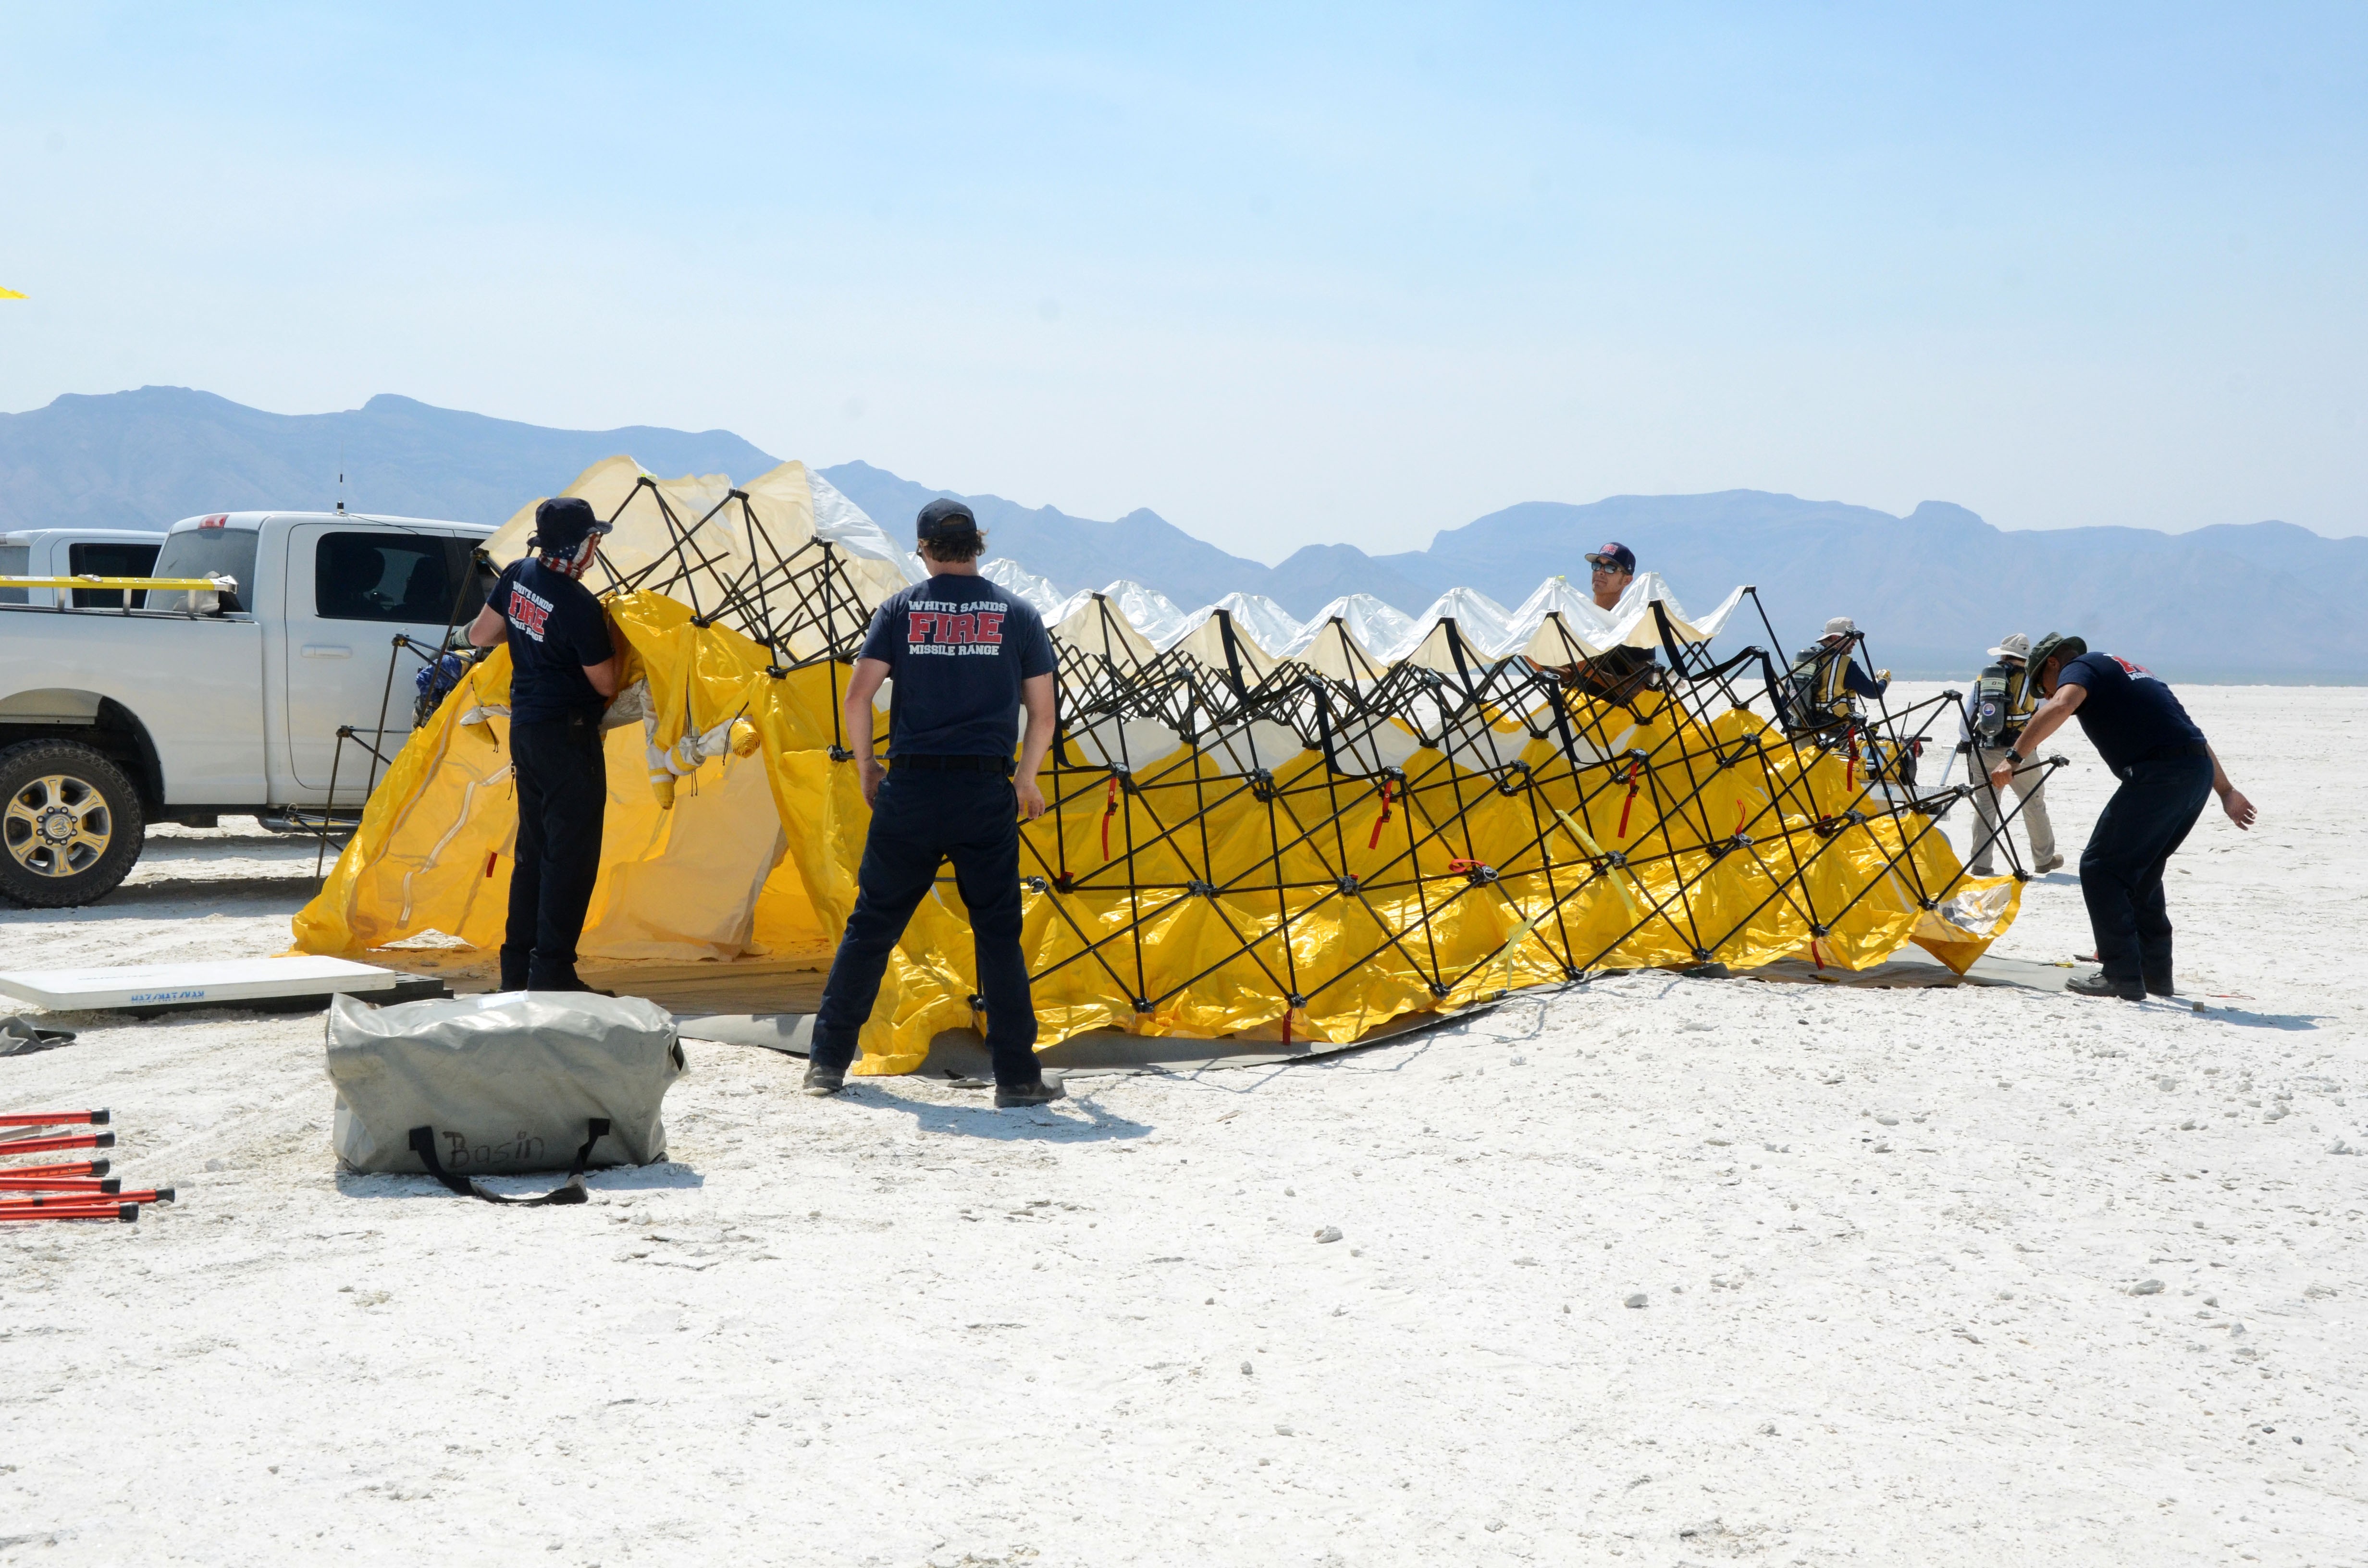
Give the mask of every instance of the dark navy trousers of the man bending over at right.
[(2122, 775), (2079, 855), (2079, 893), (2108, 981), (2171, 983), (2162, 867), (2212, 798), (2212, 758), (2160, 758)]

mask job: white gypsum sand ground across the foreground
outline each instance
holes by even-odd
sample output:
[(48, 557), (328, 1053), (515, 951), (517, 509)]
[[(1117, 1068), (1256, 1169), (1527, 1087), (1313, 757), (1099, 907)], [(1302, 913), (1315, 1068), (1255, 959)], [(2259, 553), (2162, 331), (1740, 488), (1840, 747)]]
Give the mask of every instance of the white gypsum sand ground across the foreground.
[[(2368, 692), (2183, 696), (2205, 1014), (1624, 976), (1040, 1113), (694, 1045), (573, 1210), (339, 1177), (317, 1016), (64, 1018), (0, 1104), (182, 1201), (0, 1232), (0, 1563), (2359, 1563)], [(275, 952), (308, 869), (0, 952)], [(2058, 874), (2001, 952), (2079, 950)]]

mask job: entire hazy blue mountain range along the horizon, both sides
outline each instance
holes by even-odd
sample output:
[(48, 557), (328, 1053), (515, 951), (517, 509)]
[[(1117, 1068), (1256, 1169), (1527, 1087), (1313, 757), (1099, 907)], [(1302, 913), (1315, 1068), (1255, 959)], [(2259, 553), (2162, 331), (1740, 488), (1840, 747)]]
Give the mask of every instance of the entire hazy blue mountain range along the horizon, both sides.
[[(0, 415), (0, 528), (161, 528), (197, 512), (329, 509), (341, 495), (355, 512), (497, 523), (616, 452), (656, 474), (734, 478), (777, 462), (729, 431), (556, 431), (386, 393), (334, 415), (268, 415), (144, 386)], [(822, 474), (893, 535), (931, 497), (959, 495), (864, 462)], [(1184, 606), (1248, 592), (1310, 616), (1364, 592), (1418, 613), (1456, 585), (1518, 604), (1549, 576), (1584, 580), (1584, 552), (1622, 540), (1691, 609), (1757, 585), (1785, 649), (1826, 616), (1854, 616), (1875, 661), (1902, 675), (1963, 677), (2010, 630), (2077, 630), (2174, 680), (2368, 680), (2368, 538), (2276, 521), (2008, 533), (1939, 500), (1892, 516), (1767, 490), (1613, 495), (1504, 507), (1442, 528), (1428, 550), (1307, 545), (1267, 566), (1148, 509), (1094, 521), (961, 500), (992, 554), (1063, 590), (1132, 578)], [(1767, 642), (1748, 611), (1726, 642), (1745, 640)]]

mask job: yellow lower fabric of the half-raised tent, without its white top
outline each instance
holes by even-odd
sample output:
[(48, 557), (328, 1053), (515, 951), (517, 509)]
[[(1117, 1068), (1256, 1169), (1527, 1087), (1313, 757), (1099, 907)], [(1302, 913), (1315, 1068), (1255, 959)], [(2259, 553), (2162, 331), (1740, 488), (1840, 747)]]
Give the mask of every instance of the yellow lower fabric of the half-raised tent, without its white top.
[[(843, 666), (772, 675), (760, 644), (696, 625), (661, 595), (616, 597), (609, 613), (623, 682), (644, 685), (651, 718), (609, 734), (585, 957), (826, 952), (852, 907), (869, 824), (855, 765), (829, 756)], [(355, 955), (431, 928), (500, 945), (516, 829), (507, 687), (497, 651), (412, 734), (296, 917), (298, 947)], [(1354, 1040), (1411, 1009), (1561, 981), (1565, 957), (1591, 969), (1705, 955), (1861, 969), (1918, 940), (1963, 969), (2013, 919), (2018, 883), (1954, 888), (1958, 862), (1923, 817), (1849, 822), (1866, 784), (1845, 758), (1736, 746), (1745, 760), (1693, 789), (1710, 741), (1733, 746), (1764, 727), (1724, 713), (1705, 732), (1648, 703), (1653, 722), (1632, 739), (1648, 751), (1634, 789), (1617, 765), (1572, 772), (1544, 741), (1520, 753), (1530, 782), (1516, 793), (1418, 751), (1388, 820), (1373, 782), (1331, 775), (1314, 751), (1255, 789), (1193, 748), (1113, 789), (1113, 775), (1070, 751), (1061, 812), (1023, 829), (1023, 874), (1047, 883), (1028, 891), (1023, 928), (1042, 1045), (1087, 1028)], [(661, 810), (646, 758), (739, 718), (755, 751), (699, 760)], [(1688, 803), (1662, 815), (1672, 801)], [(1189, 834), (1167, 829), (1186, 820)], [(1608, 867), (1613, 855), (1627, 865)], [(1215, 891), (1182, 891), (1191, 881)], [(1944, 888), (1961, 907), (1965, 888), (1989, 898), (1982, 931), (1923, 907), (1923, 893)], [(890, 962), (860, 1071), (912, 1071), (938, 1030), (973, 1023), (973, 992), (969, 926), (945, 881)]]

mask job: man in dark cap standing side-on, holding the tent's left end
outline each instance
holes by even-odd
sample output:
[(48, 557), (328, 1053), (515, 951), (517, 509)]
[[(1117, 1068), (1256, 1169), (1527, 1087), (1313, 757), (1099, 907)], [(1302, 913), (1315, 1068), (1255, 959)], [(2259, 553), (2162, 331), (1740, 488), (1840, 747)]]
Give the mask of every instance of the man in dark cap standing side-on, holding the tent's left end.
[(599, 720), (616, 696), (609, 616), (578, 578), (609, 523), (575, 497), (535, 507), (533, 554), (511, 564), (469, 625), (474, 647), (509, 642), (509, 760), (519, 860), (509, 874), (502, 990), (592, 990), (575, 940), (599, 879), (609, 770)]

